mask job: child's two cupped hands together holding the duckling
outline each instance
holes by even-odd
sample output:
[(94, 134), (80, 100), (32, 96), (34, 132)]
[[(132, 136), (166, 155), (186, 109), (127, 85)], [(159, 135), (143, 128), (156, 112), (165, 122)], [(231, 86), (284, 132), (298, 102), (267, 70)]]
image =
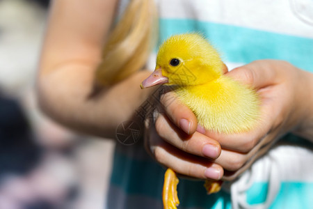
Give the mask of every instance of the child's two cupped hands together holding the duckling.
[(166, 99), (175, 96), (166, 93), (161, 99), (166, 114), (160, 114), (156, 132), (150, 134), (157, 161), (196, 178), (217, 180), (225, 169), (223, 179), (232, 180), (283, 134), (298, 131), (313, 138), (312, 74), (284, 61), (264, 60), (236, 68), (226, 75), (257, 89), (262, 101), (259, 125), (250, 132), (229, 135), (197, 128), (191, 110), (177, 100)]

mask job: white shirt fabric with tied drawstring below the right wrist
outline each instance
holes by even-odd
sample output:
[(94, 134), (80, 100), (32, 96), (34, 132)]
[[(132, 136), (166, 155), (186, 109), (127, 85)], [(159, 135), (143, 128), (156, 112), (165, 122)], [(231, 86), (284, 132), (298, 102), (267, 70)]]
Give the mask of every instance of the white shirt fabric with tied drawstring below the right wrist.
[[(303, 163), (305, 162), (305, 164)], [(231, 185), (232, 207), (268, 208), (284, 182), (313, 182), (312, 150), (292, 145), (280, 145), (271, 149), (262, 159)], [(268, 183), (268, 192), (264, 203), (250, 206), (246, 200), (246, 191), (255, 182)]]

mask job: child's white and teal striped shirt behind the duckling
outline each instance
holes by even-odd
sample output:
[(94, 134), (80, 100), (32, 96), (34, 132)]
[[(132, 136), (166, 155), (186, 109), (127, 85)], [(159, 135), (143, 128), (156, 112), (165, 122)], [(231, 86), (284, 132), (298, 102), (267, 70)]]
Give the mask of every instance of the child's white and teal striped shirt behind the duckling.
[[(280, 59), (313, 72), (313, 1), (156, 2), (159, 44), (173, 34), (200, 32), (230, 69)], [(152, 53), (148, 68), (154, 65)], [(238, 180), (209, 196), (202, 180), (180, 179), (179, 208), (313, 208), (312, 150), (309, 141), (287, 134)], [(165, 171), (145, 152), (143, 140), (133, 146), (117, 144), (107, 208), (162, 208)]]

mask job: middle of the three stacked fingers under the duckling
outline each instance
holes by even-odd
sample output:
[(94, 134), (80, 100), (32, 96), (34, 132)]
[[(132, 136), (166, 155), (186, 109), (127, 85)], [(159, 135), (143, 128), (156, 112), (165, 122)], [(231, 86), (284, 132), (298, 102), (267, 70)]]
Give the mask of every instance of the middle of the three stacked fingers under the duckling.
[(179, 130), (179, 128), (162, 114), (157, 118), (155, 127), (163, 140), (186, 153), (212, 159), (216, 159), (220, 155), (220, 145), (217, 141), (199, 132), (188, 135)]

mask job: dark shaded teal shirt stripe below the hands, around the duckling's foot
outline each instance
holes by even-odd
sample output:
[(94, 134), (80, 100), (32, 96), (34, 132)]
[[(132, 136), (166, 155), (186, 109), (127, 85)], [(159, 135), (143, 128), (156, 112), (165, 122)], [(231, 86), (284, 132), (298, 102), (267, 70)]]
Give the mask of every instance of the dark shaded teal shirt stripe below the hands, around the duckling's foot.
[[(115, 151), (111, 184), (122, 188), (127, 194), (150, 196), (162, 201), (165, 169), (152, 160), (134, 160)], [(204, 181), (180, 179), (177, 187), (182, 208), (231, 208), (230, 195), (226, 192), (208, 196)]]

